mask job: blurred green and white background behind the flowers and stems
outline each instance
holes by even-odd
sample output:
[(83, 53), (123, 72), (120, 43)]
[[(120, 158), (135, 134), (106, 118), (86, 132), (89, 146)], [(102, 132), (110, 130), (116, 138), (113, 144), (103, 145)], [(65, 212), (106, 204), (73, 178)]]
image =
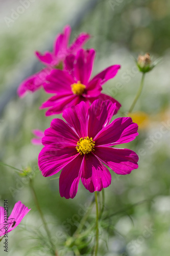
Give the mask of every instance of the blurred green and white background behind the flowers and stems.
[[(82, 218), (78, 212), (85, 212), (93, 195), (80, 183), (74, 199), (61, 198), (58, 179), (44, 178), (38, 171), (42, 146), (31, 144), (32, 130), (44, 131), (54, 116), (45, 117), (45, 110), (39, 110), (47, 98), (42, 90), (23, 99), (16, 95), (20, 82), (42, 68), (34, 51), (51, 50), (57, 33), (66, 24), (72, 26), (71, 41), (82, 31), (90, 33), (85, 47), (97, 52), (93, 75), (113, 64), (122, 66), (103, 88), (122, 103), (117, 117), (129, 110), (139, 87), (141, 73), (134, 58), (145, 52), (150, 52), (154, 60), (161, 58), (145, 76), (144, 90), (133, 111), (139, 136), (123, 145), (138, 153), (139, 168), (127, 176), (111, 172), (112, 183), (105, 189), (106, 209), (114, 216), (100, 224), (99, 255), (169, 256), (170, 2), (28, 0), (27, 8), (20, 8), (23, 2), (0, 1), (0, 161), (19, 169), (31, 166), (36, 172), (34, 186), (42, 211), (58, 248), (63, 248), (65, 237), (72, 235)], [(32, 208), (9, 233), (9, 256), (48, 255), (38, 251), (45, 232), (28, 183), (14, 169), (1, 166), (0, 205), (8, 199), (10, 212), (21, 200)], [(87, 244), (91, 246), (90, 240)], [(90, 255), (85, 249), (81, 250), (83, 254)], [(0, 255), (6, 255), (2, 244)], [(76, 254), (68, 251), (63, 255)]]

